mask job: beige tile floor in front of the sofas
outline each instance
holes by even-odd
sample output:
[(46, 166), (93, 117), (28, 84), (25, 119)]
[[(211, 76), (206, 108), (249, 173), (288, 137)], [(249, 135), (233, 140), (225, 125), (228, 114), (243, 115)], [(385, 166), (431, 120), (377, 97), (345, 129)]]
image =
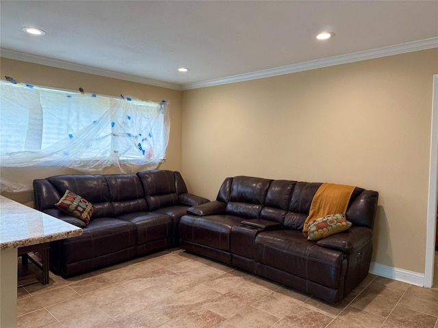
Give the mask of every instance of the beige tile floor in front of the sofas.
[[(437, 270), (438, 271), (438, 270)], [(438, 327), (438, 289), (368, 275), (339, 305), (181, 249), (18, 287), (18, 327)]]

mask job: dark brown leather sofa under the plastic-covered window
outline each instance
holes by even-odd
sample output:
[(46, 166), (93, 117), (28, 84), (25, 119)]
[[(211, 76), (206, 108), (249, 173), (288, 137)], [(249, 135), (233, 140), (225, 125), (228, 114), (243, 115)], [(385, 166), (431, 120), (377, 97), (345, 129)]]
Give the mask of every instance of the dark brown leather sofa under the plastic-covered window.
[[(88, 226), (55, 208), (66, 189), (94, 206)], [(166, 170), (34, 180), (36, 209), (83, 228), (81, 236), (50, 243), (51, 270), (64, 277), (177, 246), (179, 219), (208, 201), (188, 193), (179, 172)]]

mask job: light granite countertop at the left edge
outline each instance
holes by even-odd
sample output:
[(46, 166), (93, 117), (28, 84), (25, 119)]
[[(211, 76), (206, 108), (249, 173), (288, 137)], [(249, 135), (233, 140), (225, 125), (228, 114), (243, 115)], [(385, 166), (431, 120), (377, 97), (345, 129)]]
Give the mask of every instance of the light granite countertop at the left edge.
[(81, 234), (81, 228), (0, 196), (0, 250)]

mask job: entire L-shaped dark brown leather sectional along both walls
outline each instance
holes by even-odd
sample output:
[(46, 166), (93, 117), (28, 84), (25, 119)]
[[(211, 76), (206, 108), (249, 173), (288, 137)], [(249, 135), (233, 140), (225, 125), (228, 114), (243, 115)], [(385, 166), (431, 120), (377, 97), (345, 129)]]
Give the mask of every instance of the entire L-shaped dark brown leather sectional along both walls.
[[(50, 243), (50, 267), (64, 277), (181, 244), (213, 258), (339, 303), (365, 278), (378, 193), (356, 187), (352, 226), (308, 241), (303, 224), (321, 183), (236, 176), (215, 201), (188, 193), (179, 172), (62, 175), (34, 180), (35, 208), (83, 228)], [(55, 208), (66, 189), (94, 206), (88, 226)]]

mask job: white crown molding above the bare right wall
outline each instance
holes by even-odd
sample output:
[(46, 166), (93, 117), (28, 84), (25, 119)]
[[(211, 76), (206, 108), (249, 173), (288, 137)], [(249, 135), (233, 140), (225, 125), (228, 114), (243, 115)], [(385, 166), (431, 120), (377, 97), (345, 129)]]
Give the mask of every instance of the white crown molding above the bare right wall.
[(386, 57), (391, 55), (398, 55), (401, 53), (409, 53), (412, 51), (420, 51), (420, 50), (426, 50), (432, 48), (438, 48), (438, 37), (407, 42), (403, 44), (396, 44), (393, 46), (385, 46), (378, 49), (360, 51), (357, 53), (350, 53), (347, 55), (339, 55), (334, 57), (327, 57), (324, 59), (304, 61), (298, 64), (269, 68), (267, 70), (258, 70), (256, 72), (237, 74), (231, 77), (224, 77), (222, 79), (212, 79), (203, 82), (188, 83), (183, 85), (182, 90), (191, 90), (191, 89), (198, 89), (200, 87), (211, 87), (214, 85), (222, 85), (222, 84), (249, 81), (255, 79), (263, 79), (265, 77), (275, 77), (277, 75), (302, 72), (304, 70), (314, 70), (316, 68), (324, 68), (329, 66), (348, 64), (355, 61), (362, 61), (362, 60), (374, 59), (378, 57)]

